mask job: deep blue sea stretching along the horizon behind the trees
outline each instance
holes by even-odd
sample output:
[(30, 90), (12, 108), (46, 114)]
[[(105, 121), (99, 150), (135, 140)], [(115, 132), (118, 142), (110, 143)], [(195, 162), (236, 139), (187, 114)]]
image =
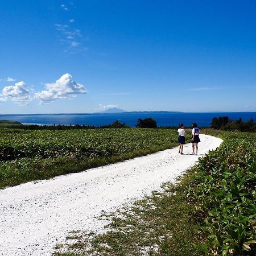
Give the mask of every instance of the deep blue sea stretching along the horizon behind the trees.
[(0, 119), (18, 121), (32, 125), (109, 125), (115, 120), (134, 127), (138, 118), (152, 117), (158, 126), (177, 126), (184, 123), (191, 126), (196, 122), (200, 127), (209, 126), (214, 117), (228, 116), (231, 119), (242, 118), (256, 121), (256, 112), (222, 112), (222, 113), (185, 113), (185, 112), (123, 112), (123, 113), (95, 113), (95, 114), (0, 114)]

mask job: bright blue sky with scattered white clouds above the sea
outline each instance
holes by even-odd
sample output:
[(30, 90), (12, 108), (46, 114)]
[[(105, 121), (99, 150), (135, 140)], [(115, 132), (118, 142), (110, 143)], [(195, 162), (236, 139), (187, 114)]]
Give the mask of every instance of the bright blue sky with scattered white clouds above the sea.
[(256, 111), (255, 1), (1, 0), (0, 114)]

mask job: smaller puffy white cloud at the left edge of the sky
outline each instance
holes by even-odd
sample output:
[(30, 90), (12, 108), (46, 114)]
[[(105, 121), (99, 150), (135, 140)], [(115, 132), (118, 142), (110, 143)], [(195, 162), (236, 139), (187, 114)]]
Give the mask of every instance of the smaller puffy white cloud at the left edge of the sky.
[(6, 86), (0, 94), (0, 101), (14, 101), (21, 106), (27, 105), (32, 99), (30, 92), (24, 82), (16, 82), (14, 85)]

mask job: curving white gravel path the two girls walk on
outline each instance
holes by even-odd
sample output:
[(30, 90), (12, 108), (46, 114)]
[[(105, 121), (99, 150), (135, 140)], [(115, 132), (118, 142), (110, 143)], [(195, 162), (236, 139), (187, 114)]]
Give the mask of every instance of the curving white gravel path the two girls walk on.
[[(221, 139), (200, 135), (199, 154), (220, 145)], [(51, 255), (56, 243), (77, 229), (103, 232), (96, 219), (123, 204), (175, 181), (200, 157), (177, 147), (122, 163), (93, 168), (51, 180), (0, 190), (0, 255)]]

